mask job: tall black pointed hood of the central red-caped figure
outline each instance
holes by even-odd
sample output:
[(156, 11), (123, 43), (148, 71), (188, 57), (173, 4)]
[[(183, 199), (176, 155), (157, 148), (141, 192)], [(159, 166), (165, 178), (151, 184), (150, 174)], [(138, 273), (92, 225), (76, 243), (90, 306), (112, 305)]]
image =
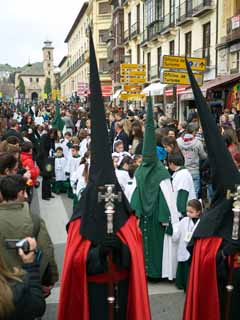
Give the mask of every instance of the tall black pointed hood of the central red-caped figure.
[[(80, 233), (94, 243), (100, 243), (107, 234), (107, 217), (104, 201), (98, 202), (98, 192), (106, 184), (115, 185), (114, 193), (122, 192), (117, 181), (106, 125), (106, 116), (98, 74), (92, 32), (89, 31), (90, 51), (90, 118), (91, 164), (86, 189), (71, 218), (81, 217)], [(115, 203), (114, 232), (117, 232), (131, 214), (130, 205), (122, 192), (121, 203)]]

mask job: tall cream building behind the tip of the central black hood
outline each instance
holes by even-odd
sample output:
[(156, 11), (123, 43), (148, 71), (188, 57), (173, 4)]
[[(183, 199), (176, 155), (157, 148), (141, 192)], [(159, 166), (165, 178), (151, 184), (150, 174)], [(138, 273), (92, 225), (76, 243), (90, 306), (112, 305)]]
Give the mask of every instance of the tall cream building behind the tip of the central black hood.
[(88, 95), (89, 50), (88, 26), (92, 28), (103, 96), (112, 93), (112, 79), (107, 57), (107, 40), (111, 26), (111, 6), (107, 1), (85, 2), (65, 40), (67, 58), (60, 63), (61, 94), (67, 99)]

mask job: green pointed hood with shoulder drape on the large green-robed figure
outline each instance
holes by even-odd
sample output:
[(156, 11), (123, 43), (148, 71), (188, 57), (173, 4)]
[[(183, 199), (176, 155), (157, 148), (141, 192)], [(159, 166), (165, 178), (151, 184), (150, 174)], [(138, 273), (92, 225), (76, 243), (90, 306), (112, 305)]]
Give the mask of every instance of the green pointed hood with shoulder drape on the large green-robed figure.
[(162, 162), (157, 158), (157, 143), (152, 111), (152, 98), (148, 98), (147, 118), (143, 141), (143, 161), (135, 177), (137, 188), (132, 196), (131, 205), (137, 216), (150, 216), (159, 205), (160, 183), (170, 175)]

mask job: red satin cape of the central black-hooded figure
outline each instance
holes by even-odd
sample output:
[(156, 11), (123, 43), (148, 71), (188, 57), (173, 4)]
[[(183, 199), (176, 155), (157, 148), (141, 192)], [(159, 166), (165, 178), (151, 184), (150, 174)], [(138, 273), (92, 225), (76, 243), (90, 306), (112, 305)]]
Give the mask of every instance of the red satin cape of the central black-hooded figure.
[[(86, 260), (91, 242), (80, 233), (80, 219), (69, 226), (61, 279), (58, 320), (89, 320)], [(131, 253), (127, 320), (150, 320), (141, 231), (131, 216), (118, 231)]]

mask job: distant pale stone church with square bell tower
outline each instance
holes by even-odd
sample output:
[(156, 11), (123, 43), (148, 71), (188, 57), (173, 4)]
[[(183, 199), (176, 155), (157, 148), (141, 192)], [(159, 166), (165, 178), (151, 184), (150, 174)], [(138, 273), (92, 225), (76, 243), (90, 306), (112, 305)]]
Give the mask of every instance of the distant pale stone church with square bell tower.
[(42, 62), (29, 63), (22, 71), (16, 73), (15, 89), (17, 98), (20, 98), (18, 94), (20, 79), (23, 80), (25, 85), (25, 99), (29, 101), (37, 101), (43, 98), (44, 86), (47, 78), (50, 78), (52, 88), (56, 86), (53, 59), (54, 48), (52, 42), (45, 41), (42, 51)]

